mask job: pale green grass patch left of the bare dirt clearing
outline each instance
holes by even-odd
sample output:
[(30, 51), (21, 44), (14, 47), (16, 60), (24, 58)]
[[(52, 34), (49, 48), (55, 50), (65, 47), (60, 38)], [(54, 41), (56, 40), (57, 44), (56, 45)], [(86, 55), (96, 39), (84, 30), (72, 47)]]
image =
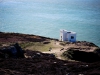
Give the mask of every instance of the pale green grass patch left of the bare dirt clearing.
[(20, 46), (23, 49), (29, 49), (34, 51), (48, 51), (50, 47), (53, 47), (51, 43), (43, 44), (43, 42), (25, 42), (21, 43)]

